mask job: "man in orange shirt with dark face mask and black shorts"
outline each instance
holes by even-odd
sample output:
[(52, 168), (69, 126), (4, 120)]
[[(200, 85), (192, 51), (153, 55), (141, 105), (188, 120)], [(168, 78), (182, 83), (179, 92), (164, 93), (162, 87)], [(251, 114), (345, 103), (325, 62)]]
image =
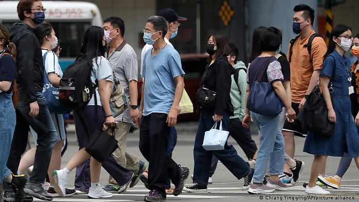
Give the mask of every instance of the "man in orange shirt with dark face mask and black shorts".
[[(314, 10), (308, 5), (301, 4), (294, 7), (293, 11), (293, 32), (300, 34), (292, 47), (289, 45), (288, 61), (290, 61), (290, 85), (292, 93), (292, 108), (296, 114), (302, 109), (306, 102), (306, 97), (311, 93), (318, 77), (320, 76), (323, 58), (327, 51), (327, 46), (322, 37), (314, 37), (309, 54), (307, 44), (311, 35), (315, 34), (313, 30)], [(292, 53), (291, 52), (292, 49)], [(294, 158), (295, 143), (294, 134), (305, 137), (307, 131), (303, 130), (301, 125), (286, 122), (283, 128), (285, 140), (285, 152)], [(303, 169), (304, 163), (296, 161), (296, 167), (289, 168), (284, 166), (284, 172), (291, 173), (294, 169)]]

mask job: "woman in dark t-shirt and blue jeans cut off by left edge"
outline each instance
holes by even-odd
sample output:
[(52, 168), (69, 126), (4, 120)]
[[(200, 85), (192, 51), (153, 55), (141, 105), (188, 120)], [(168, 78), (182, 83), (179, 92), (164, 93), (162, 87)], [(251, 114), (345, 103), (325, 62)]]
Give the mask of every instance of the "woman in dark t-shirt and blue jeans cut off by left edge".
[(6, 27), (0, 25), (0, 201), (3, 201), (3, 181), (13, 189), (16, 200), (23, 196), (26, 183), (25, 175), (14, 175), (6, 166), (16, 125), (12, 103), (16, 76), (15, 57), (15, 44), (9, 42), (9, 32)]

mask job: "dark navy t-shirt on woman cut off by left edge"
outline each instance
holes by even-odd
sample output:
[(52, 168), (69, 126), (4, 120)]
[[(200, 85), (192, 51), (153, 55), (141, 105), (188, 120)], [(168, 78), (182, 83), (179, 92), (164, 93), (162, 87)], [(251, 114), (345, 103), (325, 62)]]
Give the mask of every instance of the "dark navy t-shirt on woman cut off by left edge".
[(14, 85), (16, 76), (16, 64), (10, 55), (0, 55), (0, 81), (11, 82), (10, 89), (5, 92), (10, 94)]

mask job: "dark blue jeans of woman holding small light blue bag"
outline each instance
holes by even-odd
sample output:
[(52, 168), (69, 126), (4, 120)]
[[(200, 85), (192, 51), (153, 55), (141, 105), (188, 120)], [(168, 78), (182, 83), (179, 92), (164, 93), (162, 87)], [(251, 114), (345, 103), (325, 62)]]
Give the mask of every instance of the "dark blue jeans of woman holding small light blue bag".
[[(197, 134), (194, 140), (194, 172), (193, 172), (193, 183), (208, 184), (209, 170), (211, 168), (212, 155), (214, 154), (218, 159), (221, 160), (223, 165), (235, 176), (237, 179), (248, 175), (250, 168), (246, 162), (238, 156), (237, 151), (232, 145), (226, 143), (224, 150), (207, 151), (203, 145), (203, 139), (205, 132), (210, 130), (214, 125), (212, 116), (214, 115), (213, 110), (201, 111), (200, 123), (198, 124)], [(224, 114), (222, 119), (223, 130), (228, 131), (229, 127), (229, 116)]]

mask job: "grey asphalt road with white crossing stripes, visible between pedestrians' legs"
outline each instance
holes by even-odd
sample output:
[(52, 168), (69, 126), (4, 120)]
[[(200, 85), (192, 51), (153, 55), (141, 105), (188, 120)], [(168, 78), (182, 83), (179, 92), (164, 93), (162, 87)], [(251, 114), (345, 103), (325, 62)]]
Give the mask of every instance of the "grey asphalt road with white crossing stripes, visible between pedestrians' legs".
[[(78, 150), (76, 137), (73, 126), (68, 128), (68, 149), (62, 159), (62, 167)], [(182, 166), (189, 167), (191, 173), (193, 170), (193, 142), (196, 130), (196, 123), (181, 123), (177, 127), (178, 140), (177, 146), (173, 152), (173, 159)], [(258, 135), (253, 130), (253, 139), (258, 144)], [(128, 152), (137, 155), (140, 159), (144, 160), (138, 149), (138, 131), (130, 133), (128, 136)], [(168, 201), (357, 201), (359, 200), (359, 170), (356, 168), (355, 162), (352, 161), (349, 170), (344, 175), (342, 180), (341, 189), (334, 190), (328, 188), (330, 196), (314, 196), (308, 195), (304, 192), (302, 187), (303, 183), (309, 179), (310, 167), (313, 156), (303, 152), (304, 138), (295, 137), (296, 143), (296, 159), (303, 160), (305, 167), (301, 175), (300, 181), (296, 186), (291, 187), (288, 191), (275, 191), (271, 194), (263, 195), (250, 195), (246, 191), (242, 191), (244, 181), (243, 179), (236, 179), (224, 165), (217, 166), (217, 170), (213, 175), (213, 184), (208, 186), (209, 193), (183, 193), (179, 196), (167, 195)], [(234, 145), (237, 149), (238, 155), (244, 157), (242, 149), (230, 137), (229, 144)], [(334, 175), (337, 169), (339, 157), (328, 157), (326, 174)], [(75, 172), (72, 171), (69, 176), (68, 188), (73, 188)], [(107, 172), (102, 169), (101, 172), (101, 185), (106, 185), (108, 179)], [(187, 179), (186, 184), (191, 184), (190, 178)], [(109, 199), (89, 199), (87, 195), (74, 195), (72, 197), (56, 197), (53, 201), (143, 201), (144, 195), (148, 194), (148, 190), (140, 181), (135, 187), (130, 188), (127, 192), (122, 194), (114, 194)], [(316, 198), (315, 198), (316, 197)]]

